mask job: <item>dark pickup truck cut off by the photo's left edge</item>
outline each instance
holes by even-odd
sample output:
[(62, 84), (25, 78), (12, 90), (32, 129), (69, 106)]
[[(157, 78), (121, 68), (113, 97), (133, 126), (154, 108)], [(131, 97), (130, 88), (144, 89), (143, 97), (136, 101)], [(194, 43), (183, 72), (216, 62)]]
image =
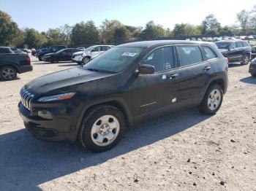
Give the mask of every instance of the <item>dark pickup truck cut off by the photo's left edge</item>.
[(0, 79), (11, 80), (17, 73), (32, 71), (29, 55), (15, 53), (10, 47), (0, 47)]

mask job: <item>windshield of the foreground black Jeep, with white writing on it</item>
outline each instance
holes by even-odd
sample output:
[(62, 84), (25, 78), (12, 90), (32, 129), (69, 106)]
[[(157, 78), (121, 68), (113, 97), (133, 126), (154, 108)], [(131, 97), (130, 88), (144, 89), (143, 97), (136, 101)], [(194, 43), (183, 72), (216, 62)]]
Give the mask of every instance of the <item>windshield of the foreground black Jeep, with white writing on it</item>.
[(142, 47), (113, 47), (87, 63), (83, 69), (118, 73), (135, 61), (142, 50)]

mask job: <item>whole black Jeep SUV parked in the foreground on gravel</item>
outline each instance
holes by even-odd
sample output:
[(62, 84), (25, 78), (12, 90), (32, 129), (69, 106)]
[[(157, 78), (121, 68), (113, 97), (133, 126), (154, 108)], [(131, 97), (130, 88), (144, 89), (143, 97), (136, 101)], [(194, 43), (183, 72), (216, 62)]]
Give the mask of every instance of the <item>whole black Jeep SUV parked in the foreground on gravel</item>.
[(121, 44), (26, 84), (20, 116), (38, 139), (79, 140), (102, 152), (146, 118), (189, 106), (216, 113), (227, 91), (226, 60), (211, 42)]

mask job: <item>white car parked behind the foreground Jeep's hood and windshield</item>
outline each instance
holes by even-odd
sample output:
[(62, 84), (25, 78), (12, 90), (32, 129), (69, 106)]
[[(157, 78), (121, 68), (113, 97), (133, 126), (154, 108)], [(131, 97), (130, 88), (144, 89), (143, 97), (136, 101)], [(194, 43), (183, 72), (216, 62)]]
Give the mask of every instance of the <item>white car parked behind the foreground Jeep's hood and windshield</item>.
[(114, 47), (113, 45), (95, 45), (86, 48), (86, 50), (75, 52), (72, 54), (72, 61), (78, 64), (86, 64), (91, 59), (96, 58), (98, 55)]

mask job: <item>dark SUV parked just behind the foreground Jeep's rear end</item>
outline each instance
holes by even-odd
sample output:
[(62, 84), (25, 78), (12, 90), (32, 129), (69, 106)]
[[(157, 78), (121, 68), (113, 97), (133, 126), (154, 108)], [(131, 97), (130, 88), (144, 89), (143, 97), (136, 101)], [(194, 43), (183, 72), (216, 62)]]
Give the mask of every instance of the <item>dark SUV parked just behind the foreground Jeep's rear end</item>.
[(229, 63), (241, 62), (248, 64), (252, 55), (252, 48), (246, 41), (223, 40), (215, 42), (222, 55), (228, 58)]

